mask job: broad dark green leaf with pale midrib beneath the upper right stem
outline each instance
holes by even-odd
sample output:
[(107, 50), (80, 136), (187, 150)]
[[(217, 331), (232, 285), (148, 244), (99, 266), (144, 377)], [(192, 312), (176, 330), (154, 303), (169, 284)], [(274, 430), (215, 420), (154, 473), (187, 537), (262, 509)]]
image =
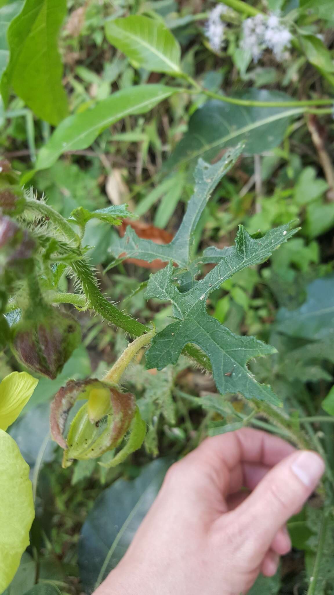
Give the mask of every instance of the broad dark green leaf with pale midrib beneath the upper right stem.
[[(286, 93), (250, 89), (237, 96), (251, 101), (289, 101)], [(281, 143), (286, 127), (303, 108), (259, 108), (226, 104), (219, 100), (206, 102), (191, 116), (188, 131), (178, 143), (166, 168), (190, 163), (198, 157), (215, 158), (226, 146), (245, 142), (248, 154), (269, 151)]]

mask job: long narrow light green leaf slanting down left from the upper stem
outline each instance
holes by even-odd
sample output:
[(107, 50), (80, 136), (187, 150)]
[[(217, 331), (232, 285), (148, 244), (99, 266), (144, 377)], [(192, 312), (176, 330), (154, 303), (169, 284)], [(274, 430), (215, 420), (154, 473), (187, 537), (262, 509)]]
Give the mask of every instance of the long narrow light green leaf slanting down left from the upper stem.
[(86, 149), (98, 134), (132, 114), (146, 114), (177, 89), (163, 84), (145, 84), (116, 91), (92, 109), (66, 118), (40, 150), (36, 170), (50, 167), (65, 151)]

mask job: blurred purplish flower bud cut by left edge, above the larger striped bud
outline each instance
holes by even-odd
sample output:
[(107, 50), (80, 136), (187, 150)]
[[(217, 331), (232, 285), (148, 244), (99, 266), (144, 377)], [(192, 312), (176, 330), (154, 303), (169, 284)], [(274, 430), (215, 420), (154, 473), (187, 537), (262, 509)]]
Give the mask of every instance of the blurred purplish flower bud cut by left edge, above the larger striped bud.
[(0, 274), (5, 268), (10, 268), (15, 273), (27, 275), (35, 247), (36, 243), (27, 230), (10, 217), (0, 215)]

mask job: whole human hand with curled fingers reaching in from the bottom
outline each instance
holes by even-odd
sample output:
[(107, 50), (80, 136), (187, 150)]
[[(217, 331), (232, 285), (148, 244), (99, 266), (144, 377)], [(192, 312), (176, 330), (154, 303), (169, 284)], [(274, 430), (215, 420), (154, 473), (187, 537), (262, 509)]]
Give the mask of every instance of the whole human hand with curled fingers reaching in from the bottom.
[[(171, 466), (124, 558), (94, 595), (240, 595), (275, 574), (286, 521), (324, 462), (242, 428), (204, 440)], [(246, 490), (243, 490), (246, 488)]]

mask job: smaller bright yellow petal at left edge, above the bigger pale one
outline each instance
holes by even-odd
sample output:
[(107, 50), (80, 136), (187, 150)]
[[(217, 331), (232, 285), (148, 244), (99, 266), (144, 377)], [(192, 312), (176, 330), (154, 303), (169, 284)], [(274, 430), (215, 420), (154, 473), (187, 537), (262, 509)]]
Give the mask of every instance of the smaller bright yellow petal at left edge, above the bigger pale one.
[(18, 418), (38, 384), (27, 372), (12, 372), (0, 384), (0, 429), (7, 430)]

